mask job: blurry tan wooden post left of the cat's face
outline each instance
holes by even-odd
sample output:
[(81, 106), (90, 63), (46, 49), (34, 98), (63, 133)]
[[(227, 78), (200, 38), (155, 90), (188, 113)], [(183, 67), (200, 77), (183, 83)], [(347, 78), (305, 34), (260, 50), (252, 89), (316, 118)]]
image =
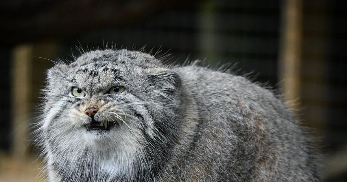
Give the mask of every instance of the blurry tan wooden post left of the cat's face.
[(21, 45), (12, 52), (12, 157), (25, 158), (27, 121), (31, 92), (31, 62), (33, 46)]

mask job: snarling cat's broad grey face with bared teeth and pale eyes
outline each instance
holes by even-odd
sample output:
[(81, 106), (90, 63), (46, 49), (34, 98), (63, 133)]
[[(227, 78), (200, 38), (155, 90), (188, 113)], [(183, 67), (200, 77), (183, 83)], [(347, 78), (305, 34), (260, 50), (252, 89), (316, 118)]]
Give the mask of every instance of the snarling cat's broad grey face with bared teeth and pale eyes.
[(179, 88), (175, 72), (139, 52), (94, 51), (56, 65), (45, 90), (45, 148), (66, 158), (86, 151), (129, 158), (172, 143)]

